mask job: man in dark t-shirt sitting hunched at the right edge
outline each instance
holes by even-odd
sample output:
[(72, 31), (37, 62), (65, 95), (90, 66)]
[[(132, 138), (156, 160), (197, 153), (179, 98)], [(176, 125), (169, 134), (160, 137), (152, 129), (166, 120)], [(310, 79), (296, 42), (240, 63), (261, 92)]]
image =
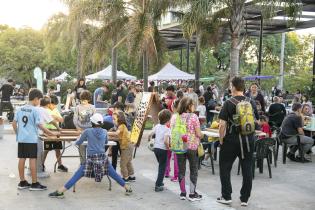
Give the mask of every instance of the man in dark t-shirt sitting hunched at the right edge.
[[(305, 152), (308, 152), (313, 144), (314, 140), (311, 137), (305, 136), (304, 134), (304, 123), (302, 118), (302, 104), (294, 103), (292, 105), (292, 113), (290, 113), (283, 120), (281, 125), (281, 139), (283, 142), (290, 145), (298, 145), (298, 137), (300, 139), (300, 144)], [(300, 156), (295, 156), (295, 152), (297, 151), (297, 146), (290, 147), (290, 152), (287, 154), (287, 157), (292, 161), (302, 162), (307, 161), (303, 160)]]

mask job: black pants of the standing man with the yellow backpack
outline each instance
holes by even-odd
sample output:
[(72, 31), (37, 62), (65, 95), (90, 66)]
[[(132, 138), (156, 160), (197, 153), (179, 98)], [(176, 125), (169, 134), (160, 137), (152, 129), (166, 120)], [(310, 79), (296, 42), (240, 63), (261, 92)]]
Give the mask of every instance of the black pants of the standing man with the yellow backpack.
[(247, 202), (252, 190), (252, 163), (254, 139), (249, 139), (250, 151), (247, 150), (246, 141), (243, 139), (244, 159), (241, 158), (241, 146), (238, 137), (224, 138), (220, 149), (220, 180), (222, 197), (226, 200), (231, 200), (232, 185), (231, 185), (231, 170), (236, 157), (241, 161), (241, 169), (243, 175), (243, 184), (241, 189), (241, 201)]

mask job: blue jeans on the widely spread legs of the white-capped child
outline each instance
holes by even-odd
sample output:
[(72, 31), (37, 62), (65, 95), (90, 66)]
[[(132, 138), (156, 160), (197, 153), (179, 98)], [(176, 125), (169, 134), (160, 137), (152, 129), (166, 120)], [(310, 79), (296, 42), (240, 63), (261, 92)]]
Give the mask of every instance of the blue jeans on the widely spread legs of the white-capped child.
[[(125, 186), (125, 181), (117, 174), (112, 164), (108, 164), (108, 175), (114, 179), (120, 186)], [(75, 172), (71, 179), (65, 184), (65, 188), (69, 190), (77, 181), (79, 181), (84, 176), (84, 165)]]

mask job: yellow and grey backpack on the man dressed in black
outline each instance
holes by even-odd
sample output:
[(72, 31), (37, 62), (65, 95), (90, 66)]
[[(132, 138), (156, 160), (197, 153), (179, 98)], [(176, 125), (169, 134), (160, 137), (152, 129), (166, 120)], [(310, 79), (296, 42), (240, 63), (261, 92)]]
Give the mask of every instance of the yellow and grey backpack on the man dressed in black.
[(248, 136), (255, 133), (255, 116), (250, 100), (246, 98), (238, 101), (235, 98), (229, 99), (236, 106), (236, 115), (233, 116), (233, 124), (239, 133)]

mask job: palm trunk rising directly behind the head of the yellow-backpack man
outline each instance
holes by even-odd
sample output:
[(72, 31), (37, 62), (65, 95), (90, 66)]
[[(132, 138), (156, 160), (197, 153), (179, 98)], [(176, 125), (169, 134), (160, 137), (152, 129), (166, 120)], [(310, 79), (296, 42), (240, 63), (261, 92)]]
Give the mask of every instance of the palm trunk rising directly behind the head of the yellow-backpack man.
[(239, 36), (237, 34), (231, 35), (231, 54), (230, 54), (230, 78), (233, 78), (239, 74), (239, 59), (240, 48), (239, 48)]

